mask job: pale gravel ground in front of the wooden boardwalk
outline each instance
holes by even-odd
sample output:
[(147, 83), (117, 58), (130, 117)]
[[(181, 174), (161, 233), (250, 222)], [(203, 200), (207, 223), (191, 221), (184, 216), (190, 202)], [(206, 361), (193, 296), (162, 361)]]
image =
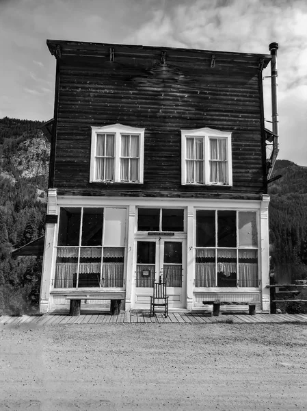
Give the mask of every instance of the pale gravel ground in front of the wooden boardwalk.
[(307, 325), (2, 326), (0, 410), (307, 410)]

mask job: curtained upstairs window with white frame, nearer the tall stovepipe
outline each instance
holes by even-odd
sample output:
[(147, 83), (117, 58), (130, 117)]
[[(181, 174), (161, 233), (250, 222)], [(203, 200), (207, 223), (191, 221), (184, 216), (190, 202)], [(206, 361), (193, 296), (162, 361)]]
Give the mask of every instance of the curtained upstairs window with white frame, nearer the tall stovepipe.
[(182, 184), (232, 185), (231, 133), (181, 130)]

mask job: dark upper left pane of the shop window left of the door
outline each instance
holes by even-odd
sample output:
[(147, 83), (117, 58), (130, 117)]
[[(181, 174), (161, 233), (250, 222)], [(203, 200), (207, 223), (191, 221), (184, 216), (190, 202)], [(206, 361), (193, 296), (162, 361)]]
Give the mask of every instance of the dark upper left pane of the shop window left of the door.
[(57, 245), (79, 245), (81, 208), (61, 208)]

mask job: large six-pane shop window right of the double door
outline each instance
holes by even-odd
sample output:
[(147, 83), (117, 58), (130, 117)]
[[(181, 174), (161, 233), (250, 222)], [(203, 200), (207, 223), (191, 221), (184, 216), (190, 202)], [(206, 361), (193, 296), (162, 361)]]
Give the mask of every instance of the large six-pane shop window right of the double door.
[(259, 286), (256, 212), (196, 211), (195, 286)]

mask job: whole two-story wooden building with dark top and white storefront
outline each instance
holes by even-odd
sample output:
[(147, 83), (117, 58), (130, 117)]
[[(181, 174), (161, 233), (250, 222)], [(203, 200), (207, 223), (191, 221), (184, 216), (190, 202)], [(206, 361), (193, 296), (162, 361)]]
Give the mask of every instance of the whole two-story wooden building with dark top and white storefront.
[(149, 309), (159, 276), (170, 309), (228, 299), (269, 311), (272, 55), (47, 45), (56, 80), (40, 312), (68, 310), (71, 295)]

